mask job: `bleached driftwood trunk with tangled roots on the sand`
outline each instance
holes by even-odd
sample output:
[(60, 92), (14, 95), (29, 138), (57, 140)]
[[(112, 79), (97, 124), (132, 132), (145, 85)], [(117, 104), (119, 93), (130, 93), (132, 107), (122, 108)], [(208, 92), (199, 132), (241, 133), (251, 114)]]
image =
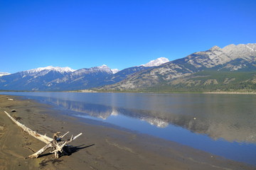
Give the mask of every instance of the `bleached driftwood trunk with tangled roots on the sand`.
[(44, 146), (42, 149), (38, 150), (38, 152), (31, 154), (30, 156), (28, 156), (28, 158), (37, 158), (40, 156), (40, 154), (43, 154), (43, 152), (46, 151), (46, 149), (53, 149), (52, 151), (50, 151), (50, 153), (54, 153), (55, 158), (58, 158), (60, 156), (60, 154), (70, 154), (70, 148), (72, 147), (71, 145), (68, 145), (70, 142), (72, 142), (73, 140), (75, 140), (77, 137), (79, 137), (80, 135), (82, 135), (82, 133), (76, 135), (75, 137), (73, 137), (73, 135), (71, 136), (70, 140), (65, 140), (62, 141), (62, 138), (68, 134), (68, 132), (66, 132), (64, 135), (60, 135), (60, 132), (56, 132), (53, 135), (53, 138), (47, 137), (46, 135), (41, 135), (36, 131), (31, 130), (30, 128), (27, 128), (25, 125), (19, 123), (16, 119), (14, 119), (13, 117), (11, 117), (11, 115), (9, 115), (9, 113), (7, 113), (6, 111), (4, 111), (6, 113), (6, 115), (9, 116), (9, 118), (11, 118), (11, 120), (14, 121), (14, 123), (16, 123), (19, 127), (21, 127), (24, 131), (28, 132), (29, 135), (36, 137), (36, 139), (41, 140), (42, 142), (46, 143), (46, 146)]

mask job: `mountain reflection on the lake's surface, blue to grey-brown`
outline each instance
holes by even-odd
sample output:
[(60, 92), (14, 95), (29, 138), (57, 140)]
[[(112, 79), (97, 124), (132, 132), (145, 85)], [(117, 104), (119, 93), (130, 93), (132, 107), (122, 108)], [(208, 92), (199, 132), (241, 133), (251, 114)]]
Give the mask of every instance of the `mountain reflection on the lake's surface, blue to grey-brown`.
[[(75, 111), (80, 117), (90, 115), (107, 120), (110, 116), (124, 115), (146, 121), (158, 128), (166, 128), (170, 124), (177, 125), (191, 132), (206, 134), (214, 140), (223, 138), (230, 142), (256, 142), (256, 125), (253, 121), (256, 119), (256, 114), (252, 107), (245, 107), (242, 103), (234, 101), (228, 104), (224, 101), (223, 103), (215, 101), (215, 99), (220, 100), (219, 97), (205, 99), (209, 101), (204, 101), (203, 105), (196, 102), (179, 103), (176, 101), (177, 103), (172, 105), (169, 111), (166, 109), (156, 111), (150, 108), (123, 108), (60, 98), (45, 98), (48, 103)], [(221, 100), (225, 99), (221, 98)]]

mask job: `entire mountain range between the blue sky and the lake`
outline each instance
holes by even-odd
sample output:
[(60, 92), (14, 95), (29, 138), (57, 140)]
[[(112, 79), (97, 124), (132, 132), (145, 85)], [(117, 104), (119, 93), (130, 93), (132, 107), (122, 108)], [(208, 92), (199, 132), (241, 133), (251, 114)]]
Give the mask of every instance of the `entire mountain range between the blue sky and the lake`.
[(256, 44), (214, 46), (169, 61), (161, 57), (118, 71), (106, 65), (41, 67), (0, 77), (0, 90), (70, 91), (256, 90)]

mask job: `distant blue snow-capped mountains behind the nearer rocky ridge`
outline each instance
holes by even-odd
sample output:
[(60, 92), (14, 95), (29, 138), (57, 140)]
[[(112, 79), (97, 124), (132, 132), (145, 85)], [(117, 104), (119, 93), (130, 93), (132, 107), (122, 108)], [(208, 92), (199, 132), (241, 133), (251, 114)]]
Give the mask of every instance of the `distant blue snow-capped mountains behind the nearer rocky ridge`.
[(70, 91), (91, 89), (107, 84), (114, 84), (129, 77), (135, 72), (159, 66), (168, 59), (157, 60), (123, 69), (110, 69), (107, 65), (100, 67), (71, 69), (70, 67), (40, 67), (0, 77), (0, 90), (10, 91)]

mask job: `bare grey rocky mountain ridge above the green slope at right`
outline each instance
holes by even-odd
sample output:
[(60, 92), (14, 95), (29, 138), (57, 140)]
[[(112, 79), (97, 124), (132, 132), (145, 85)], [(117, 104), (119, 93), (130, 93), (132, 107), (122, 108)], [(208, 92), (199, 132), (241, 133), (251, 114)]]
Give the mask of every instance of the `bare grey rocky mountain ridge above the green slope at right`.
[[(166, 62), (159, 67), (137, 72), (133, 77), (105, 86), (102, 90), (129, 91), (148, 89), (161, 85), (171, 86), (171, 81), (191, 76), (203, 70), (215, 71), (255, 71), (256, 44), (214, 46), (203, 52), (195, 52), (187, 57)], [(251, 80), (254, 82), (254, 79)]]

